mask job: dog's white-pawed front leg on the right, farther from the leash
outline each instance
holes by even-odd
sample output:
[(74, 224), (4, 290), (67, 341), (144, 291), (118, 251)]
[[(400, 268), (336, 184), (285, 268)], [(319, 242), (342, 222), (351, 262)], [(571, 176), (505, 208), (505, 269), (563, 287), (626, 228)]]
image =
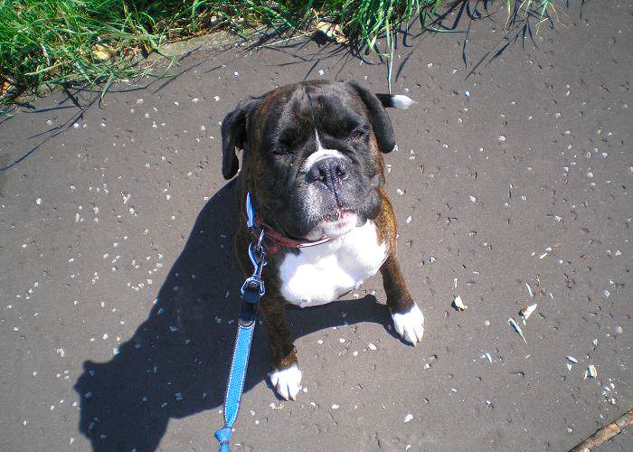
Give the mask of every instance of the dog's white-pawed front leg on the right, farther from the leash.
[(424, 315), (416, 305), (404, 283), (400, 265), (390, 254), (380, 268), (383, 275), (384, 292), (387, 294), (387, 306), (392, 311), (393, 326), (402, 339), (414, 346), (422, 341), (424, 334)]

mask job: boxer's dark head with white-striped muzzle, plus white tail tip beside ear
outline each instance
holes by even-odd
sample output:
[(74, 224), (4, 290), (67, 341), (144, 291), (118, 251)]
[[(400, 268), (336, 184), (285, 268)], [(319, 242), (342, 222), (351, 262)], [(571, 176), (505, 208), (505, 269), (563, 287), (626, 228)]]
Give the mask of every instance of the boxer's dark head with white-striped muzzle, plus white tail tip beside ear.
[(353, 81), (307, 81), (241, 101), (222, 121), (222, 174), (238, 172), (261, 218), (289, 237), (336, 237), (381, 209), (382, 153), (395, 146), (385, 107), (406, 96)]

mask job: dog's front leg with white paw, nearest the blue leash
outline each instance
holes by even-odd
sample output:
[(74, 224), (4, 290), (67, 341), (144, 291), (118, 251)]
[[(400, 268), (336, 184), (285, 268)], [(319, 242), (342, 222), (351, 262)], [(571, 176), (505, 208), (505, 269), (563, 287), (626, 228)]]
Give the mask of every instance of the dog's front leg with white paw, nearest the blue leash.
[(279, 396), (296, 400), (301, 388), (301, 371), (298, 368), (297, 349), (290, 341), (286, 326), (284, 301), (274, 294), (267, 294), (261, 299), (260, 313), (269, 332), (270, 383)]

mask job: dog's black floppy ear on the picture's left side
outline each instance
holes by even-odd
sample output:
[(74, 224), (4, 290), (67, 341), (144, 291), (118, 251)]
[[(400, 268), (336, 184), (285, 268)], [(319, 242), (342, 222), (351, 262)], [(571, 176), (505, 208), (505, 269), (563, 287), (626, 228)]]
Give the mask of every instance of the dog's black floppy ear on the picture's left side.
[(244, 99), (222, 120), (222, 175), (224, 179), (231, 179), (237, 174), (240, 162), (235, 154), (235, 148), (244, 148), (248, 137), (249, 115), (256, 106), (257, 99)]

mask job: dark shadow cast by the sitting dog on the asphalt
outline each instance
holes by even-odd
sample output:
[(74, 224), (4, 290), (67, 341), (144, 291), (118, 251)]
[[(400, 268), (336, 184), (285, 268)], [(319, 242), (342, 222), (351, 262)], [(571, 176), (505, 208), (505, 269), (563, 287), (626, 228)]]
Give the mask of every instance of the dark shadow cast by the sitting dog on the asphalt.
[[(74, 388), (80, 397), (80, 431), (93, 450), (155, 450), (170, 418), (222, 405), (236, 328), (231, 320), (240, 310), (243, 279), (232, 250), (234, 185), (225, 185), (205, 204), (132, 338), (108, 363), (84, 363)], [(374, 297), (365, 298), (309, 314), (289, 310), (293, 337), (342, 325), (341, 311), (350, 325), (385, 324), (386, 308)], [(267, 343), (265, 327), (258, 325), (244, 391), (266, 378)], [(221, 421), (216, 414), (210, 416), (213, 427)]]

